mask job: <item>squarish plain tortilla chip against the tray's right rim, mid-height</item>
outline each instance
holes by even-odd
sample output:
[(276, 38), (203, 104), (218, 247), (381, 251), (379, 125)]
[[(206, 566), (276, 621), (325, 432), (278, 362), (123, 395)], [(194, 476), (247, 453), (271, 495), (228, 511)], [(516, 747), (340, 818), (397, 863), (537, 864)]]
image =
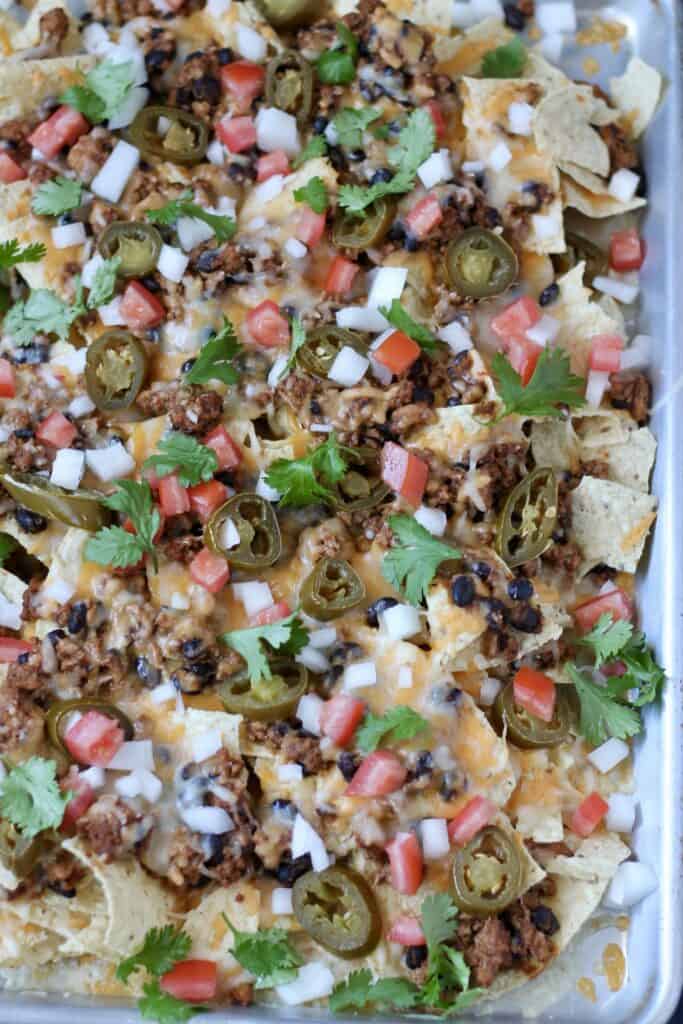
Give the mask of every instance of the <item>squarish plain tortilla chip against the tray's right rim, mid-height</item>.
[(571, 536), (584, 557), (582, 573), (601, 562), (635, 572), (656, 507), (652, 495), (585, 476), (571, 492)]

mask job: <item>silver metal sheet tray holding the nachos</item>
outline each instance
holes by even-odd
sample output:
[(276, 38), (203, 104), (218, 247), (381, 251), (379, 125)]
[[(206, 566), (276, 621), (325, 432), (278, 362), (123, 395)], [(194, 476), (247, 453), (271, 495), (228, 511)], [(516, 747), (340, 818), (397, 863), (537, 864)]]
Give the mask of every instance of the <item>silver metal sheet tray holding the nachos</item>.
[[(542, 4), (544, 0), (537, 0)], [(579, 3), (586, 25), (604, 4)], [(648, 256), (642, 273), (639, 329), (654, 339), (652, 429), (658, 439), (653, 489), (659, 515), (639, 586), (643, 629), (669, 677), (660, 709), (646, 713), (644, 738), (637, 744), (636, 774), (640, 815), (635, 833), (638, 857), (655, 869), (659, 890), (637, 906), (628, 930), (613, 915), (600, 913), (549, 971), (518, 995), (490, 1005), (497, 1024), (533, 1015), (546, 1024), (665, 1024), (683, 986), (683, 0), (617, 0), (612, 16), (628, 25), (628, 38), (610, 47), (565, 47), (561, 63), (577, 79), (588, 76), (586, 57), (600, 62), (591, 78), (606, 85), (621, 74), (632, 53), (658, 68), (668, 79), (664, 103), (644, 140), (649, 206), (644, 222)], [(610, 992), (600, 977), (604, 946), (617, 943), (627, 963), (627, 980)], [(597, 1001), (577, 991), (577, 981), (592, 977)], [(458, 1018), (464, 1024), (473, 1015)], [(59, 999), (54, 993), (0, 993), (0, 1024), (132, 1024), (128, 1005), (86, 998)], [(335, 1022), (359, 1018), (319, 1010), (232, 1008), (203, 1015), (206, 1024)], [(368, 1024), (387, 1018), (365, 1017)]]

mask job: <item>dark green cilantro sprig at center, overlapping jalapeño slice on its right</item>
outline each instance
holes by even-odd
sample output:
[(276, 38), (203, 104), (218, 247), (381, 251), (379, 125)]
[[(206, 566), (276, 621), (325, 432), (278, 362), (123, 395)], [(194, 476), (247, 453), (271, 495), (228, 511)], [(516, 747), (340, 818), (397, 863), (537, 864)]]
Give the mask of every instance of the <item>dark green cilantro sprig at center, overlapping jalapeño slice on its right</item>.
[(282, 496), (281, 506), (329, 503), (334, 500), (330, 487), (344, 476), (352, 454), (331, 433), (327, 441), (302, 459), (278, 459), (269, 467), (265, 482)]

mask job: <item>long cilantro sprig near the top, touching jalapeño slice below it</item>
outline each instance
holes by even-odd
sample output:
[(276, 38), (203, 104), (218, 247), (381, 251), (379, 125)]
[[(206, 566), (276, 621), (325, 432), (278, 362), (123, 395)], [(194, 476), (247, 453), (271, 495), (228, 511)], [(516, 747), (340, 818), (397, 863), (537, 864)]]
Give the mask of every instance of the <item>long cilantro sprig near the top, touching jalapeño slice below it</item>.
[(389, 151), (389, 162), (395, 168), (390, 181), (377, 184), (342, 185), (339, 205), (350, 214), (359, 216), (362, 211), (383, 196), (398, 196), (410, 191), (415, 184), (418, 167), (434, 151), (436, 134), (434, 122), (424, 109), (413, 111), (398, 136), (398, 143)]

